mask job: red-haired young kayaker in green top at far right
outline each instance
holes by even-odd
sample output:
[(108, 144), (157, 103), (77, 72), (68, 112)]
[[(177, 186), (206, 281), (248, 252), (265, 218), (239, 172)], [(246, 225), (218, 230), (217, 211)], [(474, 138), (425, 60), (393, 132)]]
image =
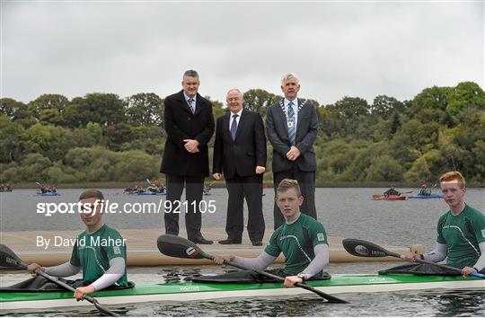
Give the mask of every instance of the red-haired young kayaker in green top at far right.
[(437, 223), (437, 247), (432, 252), (403, 257), (413, 261), (443, 261), (463, 267), (463, 276), (485, 269), (485, 216), (465, 204), (465, 180), (460, 172), (446, 172), (440, 178), (443, 199), (450, 207)]

